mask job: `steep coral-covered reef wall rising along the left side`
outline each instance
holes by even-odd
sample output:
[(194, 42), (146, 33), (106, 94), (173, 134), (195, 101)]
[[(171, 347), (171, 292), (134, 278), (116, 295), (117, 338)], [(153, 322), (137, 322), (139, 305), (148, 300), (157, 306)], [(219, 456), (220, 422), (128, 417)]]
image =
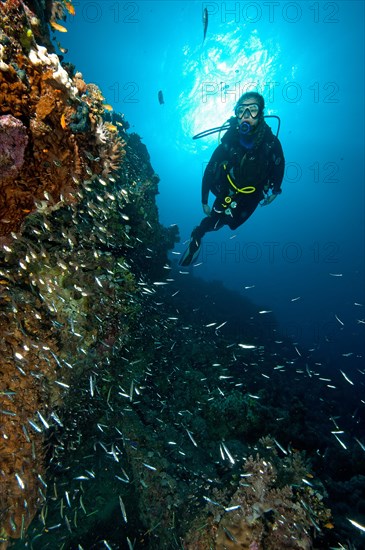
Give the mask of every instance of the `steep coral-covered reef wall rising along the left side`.
[(44, 442), (68, 389), (128, 339), (137, 258), (158, 242), (152, 276), (174, 240), (158, 224), (158, 177), (138, 136), (106, 121), (97, 86), (52, 53), (46, 23), (66, 4), (0, 3), (3, 541), (23, 537), (45, 502)]

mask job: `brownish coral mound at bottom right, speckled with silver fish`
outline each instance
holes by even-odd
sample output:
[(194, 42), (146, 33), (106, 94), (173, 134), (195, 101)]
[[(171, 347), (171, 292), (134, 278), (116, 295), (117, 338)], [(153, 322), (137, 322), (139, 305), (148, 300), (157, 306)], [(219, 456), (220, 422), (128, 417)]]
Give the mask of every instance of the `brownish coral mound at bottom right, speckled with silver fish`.
[(185, 539), (184, 548), (204, 549), (214, 545), (217, 550), (237, 546), (247, 550), (309, 550), (313, 547), (314, 526), (320, 530), (318, 522), (328, 522), (330, 511), (323, 506), (320, 492), (303, 485), (300, 488), (304, 469), (301, 460), (295, 459), (292, 464), (296, 484), (283, 485), (281, 472), (285, 472), (286, 465), (277, 455), (274, 457), (279, 470), (259, 455), (249, 457), (231, 497), (227, 498), (227, 489), (213, 491), (212, 499), (207, 498), (205, 528), (199, 530), (195, 525)]

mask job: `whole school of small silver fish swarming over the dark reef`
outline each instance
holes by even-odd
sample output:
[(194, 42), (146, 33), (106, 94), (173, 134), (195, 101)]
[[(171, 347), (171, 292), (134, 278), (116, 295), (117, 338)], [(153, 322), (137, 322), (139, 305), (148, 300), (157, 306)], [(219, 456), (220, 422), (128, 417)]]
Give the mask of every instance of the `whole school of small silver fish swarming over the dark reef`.
[[(364, 358), (329, 360), (179, 271), (158, 176), (125, 139), (117, 173), (86, 152), (74, 202), (45, 193), (1, 245), (0, 547), (360, 549)], [(353, 305), (334, 333), (363, 337)]]

